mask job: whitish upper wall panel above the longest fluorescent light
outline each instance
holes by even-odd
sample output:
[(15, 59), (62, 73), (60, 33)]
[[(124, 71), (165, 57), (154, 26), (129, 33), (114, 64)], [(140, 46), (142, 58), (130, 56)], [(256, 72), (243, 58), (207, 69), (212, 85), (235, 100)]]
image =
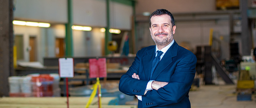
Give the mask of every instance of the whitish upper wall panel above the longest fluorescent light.
[(67, 22), (67, 0), (15, 0), (14, 19)]

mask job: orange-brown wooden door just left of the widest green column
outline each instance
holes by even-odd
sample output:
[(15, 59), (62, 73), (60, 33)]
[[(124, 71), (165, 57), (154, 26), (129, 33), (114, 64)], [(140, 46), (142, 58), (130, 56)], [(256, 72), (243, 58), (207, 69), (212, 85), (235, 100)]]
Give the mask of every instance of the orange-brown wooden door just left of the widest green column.
[(63, 57), (65, 56), (65, 39), (64, 38), (56, 38), (55, 40), (55, 56)]

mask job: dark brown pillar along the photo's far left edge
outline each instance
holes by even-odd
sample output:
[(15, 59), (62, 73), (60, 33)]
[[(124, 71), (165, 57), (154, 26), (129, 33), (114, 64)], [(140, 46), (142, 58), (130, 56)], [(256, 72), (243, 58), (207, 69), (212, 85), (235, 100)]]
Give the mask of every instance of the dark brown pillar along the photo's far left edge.
[(8, 77), (13, 69), (13, 4), (0, 0), (0, 96), (9, 96)]

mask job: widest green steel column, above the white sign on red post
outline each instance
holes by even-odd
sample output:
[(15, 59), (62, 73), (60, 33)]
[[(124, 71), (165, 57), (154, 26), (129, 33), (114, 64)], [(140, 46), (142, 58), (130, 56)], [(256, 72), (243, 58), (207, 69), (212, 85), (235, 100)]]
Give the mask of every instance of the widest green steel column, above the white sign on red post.
[(68, 23), (65, 24), (66, 26), (66, 56), (72, 57), (73, 56), (73, 36), (72, 36), (72, 25), (73, 25), (73, 13), (72, 13), (72, 0), (68, 0)]

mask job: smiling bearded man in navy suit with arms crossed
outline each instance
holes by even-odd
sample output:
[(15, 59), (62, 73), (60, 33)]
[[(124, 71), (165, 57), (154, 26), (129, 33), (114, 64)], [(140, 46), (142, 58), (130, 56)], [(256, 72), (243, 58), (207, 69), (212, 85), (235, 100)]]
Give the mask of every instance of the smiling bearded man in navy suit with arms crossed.
[(138, 98), (138, 108), (190, 108), (189, 90), (196, 57), (173, 39), (173, 15), (158, 9), (150, 16), (154, 46), (142, 48), (119, 81), (119, 90)]

